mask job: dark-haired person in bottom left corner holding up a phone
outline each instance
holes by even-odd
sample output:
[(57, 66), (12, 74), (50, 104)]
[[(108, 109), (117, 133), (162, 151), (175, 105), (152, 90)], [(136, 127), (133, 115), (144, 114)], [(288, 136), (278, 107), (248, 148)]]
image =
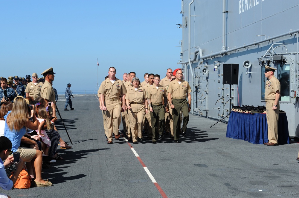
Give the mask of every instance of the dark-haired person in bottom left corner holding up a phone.
[[(13, 185), (16, 183), (20, 172), (24, 167), (24, 162), (21, 158), (19, 161), (16, 161), (13, 156), (9, 156), (12, 154), (11, 151), (12, 144), (11, 141), (4, 136), (0, 137), (0, 186), (4, 190), (9, 191)], [(4, 161), (4, 162), (3, 162)], [(16, 165), (16, 171), (13, 173), (12, 177), (7, 177), (6, 171), (4, 168), (9, 167), (10, 165)], [(0, 197), (9, 197), (6, 194), (0, 194)]]

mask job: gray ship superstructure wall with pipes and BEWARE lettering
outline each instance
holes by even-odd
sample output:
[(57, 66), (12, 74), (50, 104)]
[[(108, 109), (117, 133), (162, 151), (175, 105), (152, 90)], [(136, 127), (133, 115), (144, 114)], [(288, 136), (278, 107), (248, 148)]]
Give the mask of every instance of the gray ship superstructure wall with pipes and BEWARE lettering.
[[(193, 85), (191, 113), (222, 119), (230, 91), (232, 105), (265, 105), (263, 71), (269, 65), (282, 84), (280, 110), (287, 114), (289, 135), (299, 136), (298, 12), (297, 0), (182, 0), (178, 68)], [(230, 63), (239, 64), (238, 85), (231, 90), (222, 84), (223, 64)]]

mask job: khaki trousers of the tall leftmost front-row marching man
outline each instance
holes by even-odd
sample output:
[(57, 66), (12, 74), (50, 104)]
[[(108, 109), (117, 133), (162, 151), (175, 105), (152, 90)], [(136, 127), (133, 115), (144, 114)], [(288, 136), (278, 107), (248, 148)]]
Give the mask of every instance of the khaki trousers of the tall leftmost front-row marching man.
[(120, 112), (121, 112), (121, 102), (118, 101), (110, 101), (106, 100), (106, 129), (107, 129), (107, 138), (108, 141), (112, 141), (112, 132), (114, 135), (118, 135), (118, 128), (119, 128), (119, 119), (120, 119)]

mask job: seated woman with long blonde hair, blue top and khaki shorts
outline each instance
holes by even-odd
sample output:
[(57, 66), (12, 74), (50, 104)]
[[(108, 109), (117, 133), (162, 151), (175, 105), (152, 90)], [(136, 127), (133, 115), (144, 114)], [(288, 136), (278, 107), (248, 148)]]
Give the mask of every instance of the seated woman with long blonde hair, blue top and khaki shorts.
[(32, 130), (38, 129), (36, 117), (32, 117), (33, 121), (29, 120), (32, 114), (31, 110), (33, 110), (34, 115), (35, 106), (27, 104), (22, 96), (16, 97), (11, 112), (8, 112), (7, 115), (4, 116), (4, 119), (6, 119), (4, 136), (10, 139), (12, 152), (20, 152), (20, 158), (22, 158), (24, 162), (31, 163), (35, 178), (32, 184), (37, 187), (51, 186), (51, 182), (42, 179), (42, 152), (37, 149), (19, 147), (21, 138), (26, 133), (26, 127)]

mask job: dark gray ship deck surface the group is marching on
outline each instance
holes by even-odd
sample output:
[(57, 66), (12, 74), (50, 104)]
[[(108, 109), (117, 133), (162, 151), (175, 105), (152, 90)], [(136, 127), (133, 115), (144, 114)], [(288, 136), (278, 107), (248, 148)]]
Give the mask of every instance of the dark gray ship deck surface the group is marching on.
[[(43, 169), (54, 185), (5, 191), (11, 197), (162, 197), (123, 139), (107, 144), (96, 96), (57, 106), (71, 136), (65, 160)], [(69, 107), (68, 107), (69, 109)], [(226, 138), (227, 124), (190, 114), (186, 138), (131, 144), (167, 197), (299, 197), (299, 144), (265, 146)], [(70, 142), (61, 124), (57, 128)], [(122, 129), (122, 124), (120, 124)], [(4, 190), (0, 190), (4, 192)]]

